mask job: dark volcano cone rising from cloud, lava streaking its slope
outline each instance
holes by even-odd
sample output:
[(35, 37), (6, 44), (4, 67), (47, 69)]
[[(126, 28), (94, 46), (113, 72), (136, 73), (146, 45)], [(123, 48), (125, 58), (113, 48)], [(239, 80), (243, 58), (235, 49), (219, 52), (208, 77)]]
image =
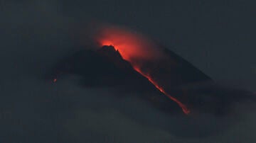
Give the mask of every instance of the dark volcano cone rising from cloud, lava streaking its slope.
[[(247, 91), (217, 86), (212, 79), (182, 57), (163, 49), (167, 58), (144, 61), (139, 69), (125, 60), (119, 50), (105, 45), (97, 50), (80, 50), (61, 59), (47, 77), (53, 82), (72, 74), (81, 77), (80, 85), (115, 87), (134, 93), (156, 108), (169, 113), (188, 114), (203, 110), (221, 115), (234, 101), (248, 99)], [(241, 96), (243, 95), (243, 96)], [(209, 100), (210, 99), (210, 100)]]

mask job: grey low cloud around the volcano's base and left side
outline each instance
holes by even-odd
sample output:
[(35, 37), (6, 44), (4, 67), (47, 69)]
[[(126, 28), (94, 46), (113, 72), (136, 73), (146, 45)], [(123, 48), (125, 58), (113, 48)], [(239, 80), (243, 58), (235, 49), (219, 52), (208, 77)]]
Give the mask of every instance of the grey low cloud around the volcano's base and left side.
[[(255, 142), (256, 115), (169, 115), (115, 88), (85, 88), (80, 76), (53, 83), (43, 74), (74, 51), (73, 18), (57, 2), (8, 2), (1, 8), (1, 142)], [(132, 93), (131, 93), (132, 94)]]

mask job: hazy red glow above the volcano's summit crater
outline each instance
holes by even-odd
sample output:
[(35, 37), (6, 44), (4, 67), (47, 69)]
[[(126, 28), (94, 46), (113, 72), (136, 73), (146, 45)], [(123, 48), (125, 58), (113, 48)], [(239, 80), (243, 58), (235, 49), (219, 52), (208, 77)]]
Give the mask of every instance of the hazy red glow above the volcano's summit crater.
[(122, 57), (129, 62), (134, 59), (152, 59), (159, 57), (161, 52), (154, 49), (156, 45), (135, 32), (129, 32), (119, 28), (102, 28), (97, 37), (100, 46), (112, 45), (119, 50)]

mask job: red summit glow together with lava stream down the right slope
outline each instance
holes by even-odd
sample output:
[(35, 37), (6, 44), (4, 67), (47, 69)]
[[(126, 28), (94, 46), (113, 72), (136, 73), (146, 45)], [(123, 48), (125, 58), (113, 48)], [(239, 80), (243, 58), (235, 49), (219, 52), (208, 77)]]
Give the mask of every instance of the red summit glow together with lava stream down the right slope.
[(100, 46), (113, 46), (115, 50), (119, 51), (122, 58), (132, 64), (135, 71), (146, 77), (161, 93), (164, 93), (172, 101), (175, 101), (182, 108), (183, 113), (190, 113), (186, 105), (167, 93), (164, 88), (157, 84), (157, 81), (151, 75), (142, 71), (142, 67), (138, 64), (139, 60), (154, 60), (154, 58), (161, 56), (162, 53), (156, 48), (153, 42), (146, 40), (141, 35), (117, 28), (103, 28), (101, 32), (100, 37), (97, 38)]

